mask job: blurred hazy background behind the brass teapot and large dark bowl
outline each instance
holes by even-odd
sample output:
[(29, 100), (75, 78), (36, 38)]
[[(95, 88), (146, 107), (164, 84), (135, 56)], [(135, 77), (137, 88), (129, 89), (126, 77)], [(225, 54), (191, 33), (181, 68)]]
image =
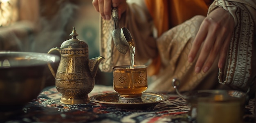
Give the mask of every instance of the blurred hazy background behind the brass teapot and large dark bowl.
[[(0, 0), (0, 51), (47, 53), (77, 37), (89, 47), (89, 58), (99, 56), (99, 13), (92, 0)], [(100, 70), (95, 84), (112, 85), (112, 73)], [(48, 71), (46, 86), (55, 79)]]

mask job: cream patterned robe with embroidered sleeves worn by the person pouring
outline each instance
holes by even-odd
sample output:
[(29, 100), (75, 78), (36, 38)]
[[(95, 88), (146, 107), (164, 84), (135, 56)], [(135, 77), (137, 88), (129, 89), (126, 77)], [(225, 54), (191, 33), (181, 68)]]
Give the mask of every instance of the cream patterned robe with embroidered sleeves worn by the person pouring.
[[(156, 1), (160, 2), (161, 0)], [(162, 0), (163, 3), (166, 1), (170, 2)], [(175, 0), (171, 1), (174, 2)], [(177, 1), (181, 2), (182, 0)], [(204, 7), (210, 2), (209, 0), (208, 2), (206, 0), (197, 1), (201, 1), (201, 4), (198, 5), (203, 5)], [(202, 4), (203, 2), (204, 4)], [(211, 4), (208, 14), (216, 7), (221, 7), (233, 15), (235, 31), (229, 47), (225, 69), (218, 69), (218, 60), (216, 59), (211, 69), (206, 73), (195, 73), (196, 60), (193, 63), (187, 61), (193, 39), (204, 17), (200, 13), (196, 13), (197, 16), (193, 15), (193, 17), (190, 15), (192, 18), (186, 20), (187, 18), (181, 16), (175, 18), (176, 15), (171, 12), (169, 14), (173, 15), (173, 17), (168, 15), (168, 18), (166, 18), (164, 11), (168, 7), (166, 9), (164, 6), (167, 4), (151, 3), (151, 5), (156, 5), (155, 9), (161, 9), (162, 14), (159, 13), (158, 15), (156, 13), (157, 10), (150, 10), (148, 9), (150, 5), (147, 5), (142, 0), (128, 3), (126, 13), (119, 20), (119, 26), (127, 27), (134, 39), (135, 65), (144, 65), (148, 63), (148, 60), (152, 59), (157, 59), (158, 61), (156, 63), (151, 61), (152, 64), (158, 63), (158, 65), (154, 66), (154, 69), (159, 68), (159, 71), (154, 72), (157, 74), (149, 79), (151, 82), (149, 82), (148, 91), (174, 91), (174, 88), (171, 86), (173, 78), (181, 81), (180, 91), (218, 88), (220, 86), (219, 83), (229, 84), (246, 91), (248, 86), (252, 84), (256, 76), (255, 58), (253, 57), (255, 54), (254, 48), (256, 48), (254, 44), (256, 34), (256, 3), (254, 1), (215, 0)], [(157, 5), (160, 5), (160, 7), (157, 7)], [(172, 11), (172, 9), (169, 11)], [(162, 22), (157, 21), (158, 19), (162, 19)], [(178, 25), (172, 27), (173, 25), (169, 24), (167, 28), (164, 25), (168, 22), (166, 19), (173, 20), (173, 25), (175, 23)], [(152, 31), (154, 27), (157, 28), (157, 35), (155, 37)], [(168, 30), (169, 28), (171, 29)], [(99, 66), (101, 71), (110, 72), (112, 71), (112, 66), (130, 64), (129, 52), (121, 54), (115, 48), (112, 42), (112, 30), (114, 30), (112, 20), (101, 20), (101, 56), (106, 58)]]

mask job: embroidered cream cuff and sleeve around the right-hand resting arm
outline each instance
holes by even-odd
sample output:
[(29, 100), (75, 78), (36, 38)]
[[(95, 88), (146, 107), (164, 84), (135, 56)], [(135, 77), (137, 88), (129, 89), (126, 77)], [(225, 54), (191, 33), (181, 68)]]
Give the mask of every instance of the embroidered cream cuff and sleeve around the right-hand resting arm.
[(218, 79), (220, 84), (229, 84), (246, 91), (255, 77), (255, 73), (252, 73), (255, 62), (252, 54), (256, 48), (253, 45), (255, 9), (252, 12), (252, 6), (234, 1), (215, 0), (209, 7), (208, 14), (216, 7), (221, 7), (234, 17), (235, 29), (227, 52), (226, 64), (223, 69), (219, 69)]

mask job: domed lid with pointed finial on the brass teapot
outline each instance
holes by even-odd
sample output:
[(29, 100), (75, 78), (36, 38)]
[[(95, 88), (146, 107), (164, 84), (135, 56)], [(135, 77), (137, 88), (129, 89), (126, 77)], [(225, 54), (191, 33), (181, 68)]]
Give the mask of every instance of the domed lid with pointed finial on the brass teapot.
[(73, 27), (72, 33), (70, 34), (72, 37), (69, 40), (64, 41), (61, 44), (61, 48), (68, 48), (68, 49), (80, 49), (80, 48), (88, 48), (88, 44), (80, 39), (76, 39), (78, 34), (76, 33), (75, 27)]

